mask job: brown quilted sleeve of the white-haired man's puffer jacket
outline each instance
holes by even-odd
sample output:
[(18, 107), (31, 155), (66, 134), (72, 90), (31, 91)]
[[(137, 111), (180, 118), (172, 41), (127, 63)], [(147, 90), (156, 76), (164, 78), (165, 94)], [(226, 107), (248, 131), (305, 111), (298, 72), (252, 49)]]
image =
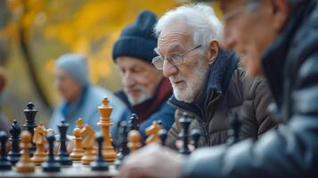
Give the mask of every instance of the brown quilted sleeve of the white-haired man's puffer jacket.
[(257, 119), (257, 137), (277, 125), (277, 121), (268, 111), (269, 104), (273, 102), (272, 94), (269, 91), (270, 89), (268, 88), (265, 79), (261, 80), (255, 90), (253, 107)]

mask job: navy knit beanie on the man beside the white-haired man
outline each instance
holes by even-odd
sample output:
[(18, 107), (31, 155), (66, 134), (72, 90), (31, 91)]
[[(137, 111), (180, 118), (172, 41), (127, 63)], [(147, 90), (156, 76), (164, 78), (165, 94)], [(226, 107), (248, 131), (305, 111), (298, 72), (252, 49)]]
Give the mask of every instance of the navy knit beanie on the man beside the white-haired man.
[(157, 16), (153, 12), (140, 12), (135, 22), (123, 29), (113, 45), (112, 59), (116, 62), (119, 56), (128, 56), (151, 63), (152, 58), (157, 56), (153, 51), (157, 47), (157, 37), (152, 30), (156, 23)]

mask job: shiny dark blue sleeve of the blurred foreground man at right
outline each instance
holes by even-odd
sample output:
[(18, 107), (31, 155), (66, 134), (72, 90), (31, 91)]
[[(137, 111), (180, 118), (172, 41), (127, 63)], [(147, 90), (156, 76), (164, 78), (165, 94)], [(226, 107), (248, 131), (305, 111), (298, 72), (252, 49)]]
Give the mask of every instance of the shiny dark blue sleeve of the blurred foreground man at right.
[(183, 177), (317, 177), (318, 55), (303, 64), (293, 93), (294, 114), (287, 125), (231, 147), (197, 150)]

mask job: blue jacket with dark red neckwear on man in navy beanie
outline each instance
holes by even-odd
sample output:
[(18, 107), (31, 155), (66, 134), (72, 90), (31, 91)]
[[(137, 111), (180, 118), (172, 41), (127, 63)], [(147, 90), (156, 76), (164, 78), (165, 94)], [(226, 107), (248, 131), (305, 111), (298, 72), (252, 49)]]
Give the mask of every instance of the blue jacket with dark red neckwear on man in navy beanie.
[(119, 121), (126, 120), (128, 122), (133, 113), (139, 117), (140, 132), (143, 135), (143, 139), (146, 138), (146, 128), (148, 128), (153, 121), (161, 120), (161, 124), (167, 130), (169, 130), (174, 123), (175, 109), (167, 105), (167, 100), (172, 94), (172, 88), (166, 78), (159, 83), (156, 92), (151, 99), (143, 101), (143, 103), (135, 106), (130, 105), (124, 92), (121, 91), (115, 94), (126, 103), (127, 109), (123, 116), (115, 122), (114, 126), (112, 126), (110, 131), (113, 136), (118, 133)]

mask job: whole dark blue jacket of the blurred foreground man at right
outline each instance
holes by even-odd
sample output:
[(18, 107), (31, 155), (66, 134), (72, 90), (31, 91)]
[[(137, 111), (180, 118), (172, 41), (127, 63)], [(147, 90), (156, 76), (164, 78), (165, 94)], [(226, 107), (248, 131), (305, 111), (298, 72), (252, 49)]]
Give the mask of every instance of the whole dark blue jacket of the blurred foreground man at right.
[(257, 142), (197, 150), (183, 177), (318, 177), (318, 6), (300, 2), (263, 59), (286, 125)]

